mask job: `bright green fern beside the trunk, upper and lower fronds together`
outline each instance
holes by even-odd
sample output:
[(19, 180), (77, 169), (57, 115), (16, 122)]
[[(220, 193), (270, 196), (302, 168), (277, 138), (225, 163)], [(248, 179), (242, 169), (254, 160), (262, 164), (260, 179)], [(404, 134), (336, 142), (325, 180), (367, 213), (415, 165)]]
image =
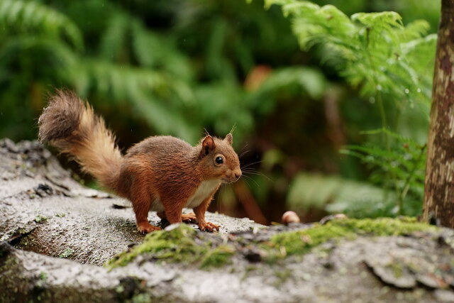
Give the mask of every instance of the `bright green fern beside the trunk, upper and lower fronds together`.
[[(272, 4), (282, 6), (284, 15), (292, 19), (301, 48), (318, 47), (326, 65), (335, 67), (371, 103), (377, 101), (382, 142), (350, 145), (344, 153), (371, 165), (372, 182), (384, 187), (382, 204), (387, 205), (386, 215), (419, 214), (425, 145), (403, 138), (389, 128), (399, 131), (400, 119), (408, 115), (415, 103), (428, 120), (432, 76), (427, 71), (433, 70), (436, 44), (436, 35), (427, 35), (429, 24), (419, 20), (404, 26), (402, 17), (394, 11), (355, 13), (348, 18), (332, 5), (265, 1), (267, 7)], [(394, 109), (389, 110), (389, 106)], [(327, 184), (323, 182), (323, 186)], [(397, 208), (389, 208), (390, 199), (397, 199)], [(321, 200), (326, 203), (326, 197)], [(334, 202), (331, 210), (348, 212), (358, 209), (355, 205), (355, 199), (348, 204)]]

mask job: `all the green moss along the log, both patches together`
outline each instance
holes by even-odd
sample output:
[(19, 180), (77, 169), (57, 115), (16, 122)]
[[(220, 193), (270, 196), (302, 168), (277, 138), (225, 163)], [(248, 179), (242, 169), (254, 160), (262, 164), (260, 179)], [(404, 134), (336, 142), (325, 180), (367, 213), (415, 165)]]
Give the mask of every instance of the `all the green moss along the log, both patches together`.
[[(303, 255), (311, 248), (336, 238), (355, 238), (358, 235), (393, 236), (414, 231), (430, 231), (436, 227), (421, 224), (414, 219), (337, 219), (325, 225), (279, 233), (270, 241), (255, 243), (265, 255), (265, 262), (273, 264), (287, 255)], [(192, 227), (180, 224), (171, 231), (154, 231), (145, 236), (143, 243), (116, 255), (106, 263), (109, 269), (125, 266), (138, 255), (148, 254), (157, 262), (196, 264), (201, 269), (225, 265), (245, 243), (222, 243), (221, 238), (197, 233)], [(250, 243), (248, 243), (250, 245)]]

